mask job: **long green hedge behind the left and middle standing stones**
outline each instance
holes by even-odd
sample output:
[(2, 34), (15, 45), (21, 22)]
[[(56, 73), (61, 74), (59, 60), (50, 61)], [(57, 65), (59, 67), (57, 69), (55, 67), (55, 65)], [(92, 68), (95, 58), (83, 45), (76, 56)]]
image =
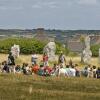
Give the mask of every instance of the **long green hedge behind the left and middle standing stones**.
[[(14, 44), (20, 46), (20, 52), (22, 54), (32, 54), (32, 52), (42, 54), (43, 48), (47, 43), (35, 39), (8, 38), (0, 40), (0, 53), (9, 53)], [(59, 54), (61, 51), (63, 51), (65, 54), (68, 54), (69, 52), (67, 48), (62, 46), (62, 44), (56, 42), (56, 54)]]

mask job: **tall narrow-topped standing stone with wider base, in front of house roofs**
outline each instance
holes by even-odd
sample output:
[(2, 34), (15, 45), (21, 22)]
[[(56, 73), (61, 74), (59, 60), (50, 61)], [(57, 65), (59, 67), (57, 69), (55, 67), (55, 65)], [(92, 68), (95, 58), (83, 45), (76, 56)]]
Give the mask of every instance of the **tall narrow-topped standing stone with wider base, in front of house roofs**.
[(87, 36), (85, 38), (85, 49), (83, 50), (82, 53), (82, 60), (85, 64), (90, 64), (91, 57), (92, 57), (92, 52), (90, 50), (90, 37)]

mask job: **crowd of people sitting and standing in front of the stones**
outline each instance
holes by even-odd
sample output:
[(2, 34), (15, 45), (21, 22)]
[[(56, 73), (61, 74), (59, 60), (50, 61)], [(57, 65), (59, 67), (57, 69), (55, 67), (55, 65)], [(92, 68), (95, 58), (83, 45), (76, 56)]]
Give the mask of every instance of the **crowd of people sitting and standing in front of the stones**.
[(40, 64), (37, 64), (38, 56), (33, 53), (31, 57), (32, 65), (23, 63), (21, 65), (15, 64), (15, 59), (10, 53), (8, 60), (0, 64), (1, 73), (23, 73), (25, 75), (37, 74), (39, 76), (65, 76), (65, 77), (90, 77), (100, 78), (100, 67), (86, 65), (83, 69), (80, 69), (78, 64), (73, 64), (72, 60), (66, 65), (66, 58), (63, 53), (58, 58), (58, 63), (53, 66), (49, 66), (49, 57), (46, 53), (43, 54), (43, 58)]

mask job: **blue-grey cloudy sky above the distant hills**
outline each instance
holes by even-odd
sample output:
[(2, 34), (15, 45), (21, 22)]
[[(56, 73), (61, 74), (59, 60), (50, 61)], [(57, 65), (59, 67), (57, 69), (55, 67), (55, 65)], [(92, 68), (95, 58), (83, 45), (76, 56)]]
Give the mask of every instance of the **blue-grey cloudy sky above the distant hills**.
[(0, 28), (100, 29), (100, 0), (0, 0)]

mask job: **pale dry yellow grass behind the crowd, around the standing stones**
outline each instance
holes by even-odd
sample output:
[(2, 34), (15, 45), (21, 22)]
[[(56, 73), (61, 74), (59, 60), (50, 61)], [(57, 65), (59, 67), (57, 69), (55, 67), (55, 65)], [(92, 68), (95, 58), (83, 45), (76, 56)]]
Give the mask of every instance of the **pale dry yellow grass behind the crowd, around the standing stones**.
[[(7, 57), (8, 57), (7, 54), (0, 54), (0, 62), (7, 60)], [(38, 55), (38, 58), (39, 58), (38, 62), (40, 62), (42, 60), (42, 55)], [(70, 59), (72, 59), (73, 63), (78, 63), (80, 66), (83, 66), (80, 63), (81, 61), (80, 57), (66, 57), (67, 64)], [(16, 64), (22, 64), (23, 62), (31, 64), (31, 55), (20, 55), (20, 57), (16, 60)], [(98, 58), (92, 58), (91, 65), (100, 66), (100, 64), (98, 63)]]

